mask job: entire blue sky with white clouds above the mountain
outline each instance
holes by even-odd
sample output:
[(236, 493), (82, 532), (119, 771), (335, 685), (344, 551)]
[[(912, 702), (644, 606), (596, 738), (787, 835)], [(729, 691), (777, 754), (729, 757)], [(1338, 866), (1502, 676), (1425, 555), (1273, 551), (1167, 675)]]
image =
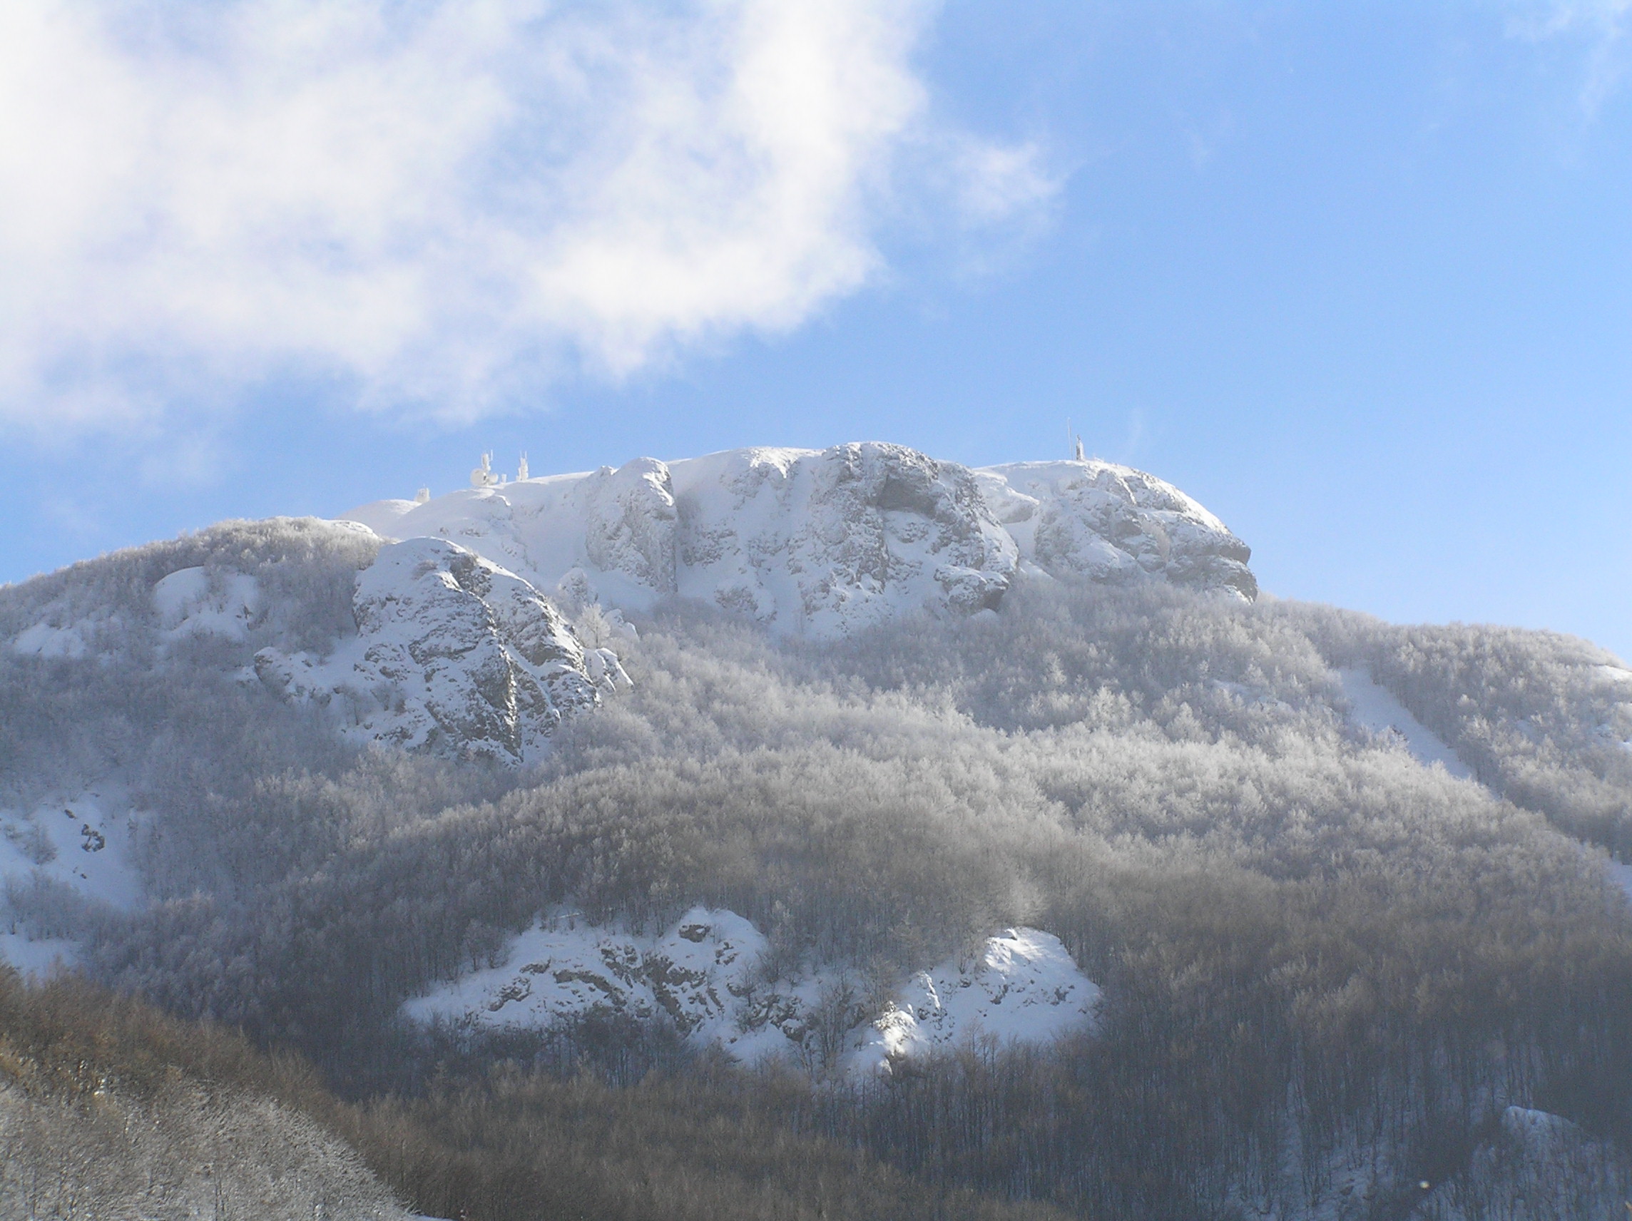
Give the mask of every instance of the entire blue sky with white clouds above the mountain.
[(1069, 420), (1275, 594), (1632, 656), (1625, 0), (60, 11), (0, 18), (75, 85), (0, 52), (0, 579)]

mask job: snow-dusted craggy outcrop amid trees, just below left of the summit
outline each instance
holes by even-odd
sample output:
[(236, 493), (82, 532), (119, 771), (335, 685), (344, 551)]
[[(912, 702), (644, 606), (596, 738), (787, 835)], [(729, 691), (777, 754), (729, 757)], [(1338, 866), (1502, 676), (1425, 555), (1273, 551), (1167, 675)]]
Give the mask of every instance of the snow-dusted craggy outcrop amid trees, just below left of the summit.
[(516, 762), (628, 682), (532, 584), (452, 542), (382, 547), (353, 602), (356, 638), (326, 658), (263, 648), (255, 674), (290, 700), (338, 699), (354, 736)]

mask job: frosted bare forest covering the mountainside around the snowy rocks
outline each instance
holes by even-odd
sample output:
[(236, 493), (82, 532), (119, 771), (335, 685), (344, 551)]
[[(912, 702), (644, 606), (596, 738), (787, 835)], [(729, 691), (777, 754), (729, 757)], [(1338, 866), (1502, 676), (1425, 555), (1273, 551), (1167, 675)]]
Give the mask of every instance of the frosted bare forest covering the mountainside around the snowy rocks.
[[(0, 692), (8, 842), (28, 847), (36, 805), (62, 818), (118, 782), (145, 896), (103, 903), (62, 868), (78, 849), (57, 852), (8, 881), (8, 927), (173, 1014), (299, 1048), (444, 1149), (372, 1162), (390, 1182), (441, 1167), (496, 1201), (496, 1167), (543, 1174), (514, 1138), (537, 1131), (617, 1192), (643, 1166), (746, 1193), (720, 1216), (769, 1210), (746, 1201), (775, 1183), (809, 1198), (809, 1166), (925, 1216), (1624, 1211), (1632, 917), (1583, 844), (1619, 846), (1632, 795), (1617, 659), (1159, 581), (1023, 579), (996, 612), (827, 642), (685, 599), (632, 614), (636, 638), (581, 607), (586, 656), (615, 645), (633, 686), (517, 764), (348, 736), (361, 705), (255, 681), (274, 637), (346, 646), (379, 545), (220, 527), (0, 591), (0, 637), (67, 606), (54, 628), (85, 642), (0, 651)], [(282, 622), (155, 646), (171, 628), (149, 591), (188, 566), (287, 589)], [(1340, 666), (1368, 668), (1479, 782), (1356, 726)], [(612, 1012), (503, 1035), (403, 1017), (543, 912), (651, 930), (695, 904), (767, 939), (746, 1001), (842, 981), (782, 1064)], [(904, 978), (1018, 926), (1103, 989), (1092, 1028), (845, 1071), (840, 1035)], [(659, 1152), (682, 1139), (664, 1125), (718, 1139)], [(432, 1187), (418, 1206), (447, 1211)]]

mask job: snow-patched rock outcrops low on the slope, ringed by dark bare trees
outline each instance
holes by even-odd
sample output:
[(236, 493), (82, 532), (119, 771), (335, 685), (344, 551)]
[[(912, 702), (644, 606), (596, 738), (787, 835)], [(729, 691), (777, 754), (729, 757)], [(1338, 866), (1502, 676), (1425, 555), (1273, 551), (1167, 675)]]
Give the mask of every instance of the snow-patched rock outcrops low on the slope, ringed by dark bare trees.
[(850, 1072), (951, 1051), (979, 1038), (1046, 1043), (1092, 1028), (1100, 989), (1058, 937), (1007, 929), (981, 952), (906, 981), (868, 1012), (842, 971), (770, 979), (769, 944), (731, 911), (692, 908), (661, 935), (594, 927), (565, 912), (516, 937), (499, 966), (410, 1001), (416, 1022), (547, 1030), (601, 1010), (667, 1019), (698, 1045), (744, 1063), (780, 1056)]

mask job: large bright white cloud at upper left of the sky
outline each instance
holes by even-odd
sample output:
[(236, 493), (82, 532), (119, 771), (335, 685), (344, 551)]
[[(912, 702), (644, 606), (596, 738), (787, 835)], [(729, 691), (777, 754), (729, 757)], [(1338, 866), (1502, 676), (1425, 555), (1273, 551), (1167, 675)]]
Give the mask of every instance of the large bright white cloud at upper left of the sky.
[[(0, 420), (449, 416), (798, 325), (924, 144), (919, 0), (11, 0)], [(958, 139), (982, 220), (1051, 191)]]

